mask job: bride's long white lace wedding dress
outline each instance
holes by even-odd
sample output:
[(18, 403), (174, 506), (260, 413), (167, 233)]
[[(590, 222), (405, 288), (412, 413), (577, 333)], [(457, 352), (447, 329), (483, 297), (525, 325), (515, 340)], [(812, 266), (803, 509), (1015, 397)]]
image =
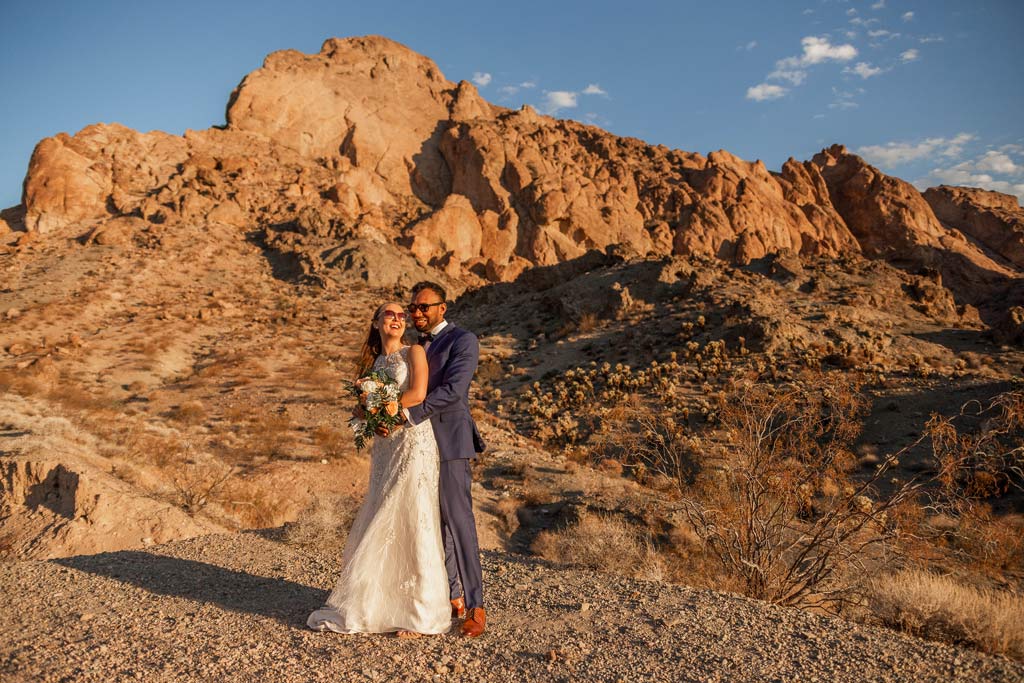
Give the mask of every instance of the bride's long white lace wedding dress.
[[(374, 370), (404, 390), (408, 357), (404, 346), (378, 356)], [(440, 463), (430, 421), (375, 436), (370, 457), (370, 487), (345, 543), (341, 578), (306, 624), (338, 633), (444, 633), (452, 605), (437, 495)]]

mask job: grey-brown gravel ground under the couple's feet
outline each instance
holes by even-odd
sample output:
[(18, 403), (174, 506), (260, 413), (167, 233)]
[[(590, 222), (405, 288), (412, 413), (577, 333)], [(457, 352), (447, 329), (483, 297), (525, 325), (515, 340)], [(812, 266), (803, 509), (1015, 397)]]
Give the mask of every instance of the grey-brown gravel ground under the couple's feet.
[(496, 552), (482, 638), (315, 633), (340, 552), (273, 538), (0, 563), (0, 679), (1024, 681), (1024, 664), (973, 650)]

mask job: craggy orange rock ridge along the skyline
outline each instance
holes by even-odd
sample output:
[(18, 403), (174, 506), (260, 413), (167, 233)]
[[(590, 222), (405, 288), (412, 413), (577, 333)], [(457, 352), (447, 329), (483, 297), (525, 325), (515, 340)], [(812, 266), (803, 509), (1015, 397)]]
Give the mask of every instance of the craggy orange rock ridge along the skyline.
[[(30, 230), (100, 244), (136, 239), (137, 225), (105, 225), (125, 216), (256, 232), (321, 283), (324, 254), (357, 240), (402, 246), (468, 284), (625, 244), (736, 263), (863, 253), (934, 270), (977, 304), (1024, 263), (1019, 208), (979, 197), (933, 194), (940, 221), (913, 186), (841, 145), (773, 173), (724, 151), (504, 110), (430, 59), (366, 37), (270, 54), (231, 93), (224, 127), (177, 137), (96, 125), (47, 138), (24, 203)], [(955, 207), (968, 205), (965, 217)]]

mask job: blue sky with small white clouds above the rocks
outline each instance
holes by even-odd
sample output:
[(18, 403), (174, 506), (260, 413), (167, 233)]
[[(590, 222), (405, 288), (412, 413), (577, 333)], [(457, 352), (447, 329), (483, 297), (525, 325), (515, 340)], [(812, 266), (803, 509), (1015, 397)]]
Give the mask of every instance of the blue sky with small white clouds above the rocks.
[(278, 49), (380, 34), (493, 102), (777, 170), (842, 142), (921, 187), (1024, 199), (1024, 2), (2, 2), (0, 207), (35, 143), (181, 134)]

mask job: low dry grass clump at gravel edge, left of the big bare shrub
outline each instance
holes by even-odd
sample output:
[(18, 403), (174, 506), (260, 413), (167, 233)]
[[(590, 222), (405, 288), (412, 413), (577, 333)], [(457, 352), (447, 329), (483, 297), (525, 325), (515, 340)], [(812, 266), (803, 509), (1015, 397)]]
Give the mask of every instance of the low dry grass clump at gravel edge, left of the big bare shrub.
[(620, 573), (660, 580), (662, 557), (650, 538), (640, 529), (609, 515), (584, 514), (575, 524), (541, 531), (532, 551), (544, 559)]

